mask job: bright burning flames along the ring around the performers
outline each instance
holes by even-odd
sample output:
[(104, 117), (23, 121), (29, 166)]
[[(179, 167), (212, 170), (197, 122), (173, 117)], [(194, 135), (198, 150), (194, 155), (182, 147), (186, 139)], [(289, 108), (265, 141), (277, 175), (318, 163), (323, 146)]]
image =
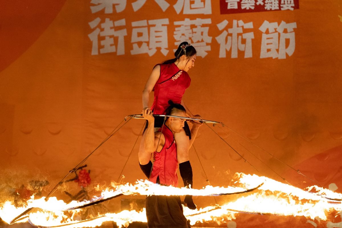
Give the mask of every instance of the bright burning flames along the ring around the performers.
[[(175, 188), (172, 186), (161, 186), (147, 180), (137, 181), (134, 185), (127, 183), (116, 186), (115, 189), (102, 191), (100, 197), (94, 197), (90, 201), (72, 201), (65, 203), (51, 197), (48, 201), (45, 198), (34, 199), (34, 196), (27, 201), (25, 207), (15, 207), (12, 202), (5, 202), (0, 207), (0, 217), (6, 222), (11, 221), (29, 208), (33, 208), (24, 215), (24, 219), (18, 222), (29, 221), (32, 225), (39, 227), (95, 227), (105, 221), (114, 221), (120, 227), (128, 226), (133, 221), (146, 222), (145, 209), (141, 212), (121, 211), (119, 213), (107, 213), (94, 218), (79, 220), (77, 214), (82, 213), (81, 209), (69, 210), (70, 208), (87, 205), (91, 202), (115, 197), (118, 194), (124, 195), (200, 195), (211, 196), (221, 194), (234, 194), (246, 192), (246, 189), (253, 189), (259, 186), (248, 195), (239, 195), (239, 198), (224, 205), (209, 206), (200, 208), (197, 211), (184, 207), (184, 215), (190, 220), (190, 224), (197, 222), (232, 220), (239, 212), (252, 214), (269, 214), (284, 216), (305, 216), (311, 219), (319, 218), (327, 220), (332, 212), (342, 212), (342, 194), (332, 192), (328, 189), (311, 186), (302, 190), (291, 185), (280, 183), (267, 177), (257, 175), (238, 174), (235, 182), (242, 187), (212, 187), (206, 186), (203, 189)], [(316, 193), (311, 192), (315, 190)]]

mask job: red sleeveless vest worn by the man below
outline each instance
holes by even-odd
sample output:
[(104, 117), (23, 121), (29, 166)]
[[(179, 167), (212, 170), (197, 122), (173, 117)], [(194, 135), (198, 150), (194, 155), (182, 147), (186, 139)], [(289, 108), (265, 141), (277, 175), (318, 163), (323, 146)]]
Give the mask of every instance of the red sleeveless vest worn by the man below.
[[(161, 131), (161, 128), (158, 130)], [(160, 184), (178, 186), (178, 161), (176, 143), (173, 133), (166, 125), (163, 127), (162, 134), (165, 137), (165, 144), (160, 152), (154, 152), (153, 167), (149, 180), (156, 183), (159, 176)]]

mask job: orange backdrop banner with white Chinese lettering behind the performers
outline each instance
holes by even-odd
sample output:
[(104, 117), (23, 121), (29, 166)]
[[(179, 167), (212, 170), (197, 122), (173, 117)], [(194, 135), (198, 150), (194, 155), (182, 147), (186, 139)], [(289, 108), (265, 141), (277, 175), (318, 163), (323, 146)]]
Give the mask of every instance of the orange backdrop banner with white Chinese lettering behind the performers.
[[(198, 56), (184, 95), (193, 114), (238, 133), (218, 130), (259, 175), (282, 181), (271, 167), (295, 186), (314, 185), (300, 168), (341, 192), (341, 0), (0, 2), (1, 183), (19, 178), (15, 189), (39, 172), (57, 183), (125, 116), (140, 114), (153, 67), (188, 41)], [(92, 183), (144, 178), (137, 158), (143, 125), (131, 120), (87, 160)], [(195, 188), (256, 172), (206, 126), (194, 145)], [(214, 203), (200, 199), (199, 206)], [(325, 227), (291, 219), (294, 227)], [(236, 222), (265, 221), (280, 226), (254, 215)]]

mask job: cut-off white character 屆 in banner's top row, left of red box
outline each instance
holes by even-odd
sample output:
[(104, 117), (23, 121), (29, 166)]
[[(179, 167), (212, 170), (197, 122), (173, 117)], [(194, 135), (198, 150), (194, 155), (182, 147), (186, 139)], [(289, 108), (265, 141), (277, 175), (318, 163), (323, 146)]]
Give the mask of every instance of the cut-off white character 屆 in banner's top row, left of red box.
[(177, 14), (211, 14), (211, 0), (177, 0), (173, 8)]

